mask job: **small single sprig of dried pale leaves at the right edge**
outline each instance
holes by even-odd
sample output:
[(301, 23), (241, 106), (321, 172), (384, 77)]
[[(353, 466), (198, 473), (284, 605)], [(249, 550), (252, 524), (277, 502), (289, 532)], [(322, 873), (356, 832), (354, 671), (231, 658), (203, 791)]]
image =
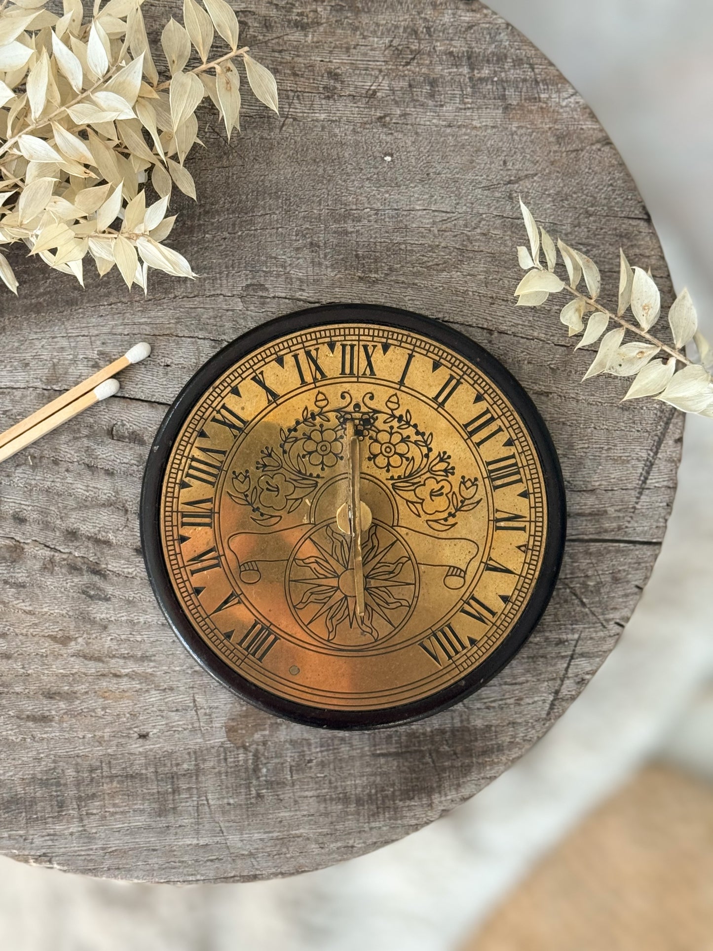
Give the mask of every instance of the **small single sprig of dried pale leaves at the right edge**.
[[(616, 312), (608, 310), (599, 301), (602, 278), (597, 265), (561, 240), (555, 245), (548, 232), (538, 227), (522, 200), (520, 207), (530, 248), (517, 248), (520, 266), (528, 272), (515, 290), (517, 305), (540, 307), (550, 294), (568, 291), (572, 300), (562, 308), (560, 320), (568, 327), (570, 337), (584, 333), (575, 349), (601, 339), (584, 379), (602, 373), (634, 377), (624, 399), (653, 397), (686, 413), (713, 417), (713, 348), (698, 329), (696, 309), (688, 291), (684, 290), (668, 311), (671, 345), (651, 333), (661, 317), (661, 293), (650, 272), (632, 268), (621, 251), (619, 304)], [(555, 274), (558, 250), (568, 282)], [(578, 289), (583, 278), (587, 293)], [(629, 308), (636, 323), (626, 320)], [(626, 334), (638, 340), (625, 343)], [(690, 359), (684, 352), (691, 341), (695, 342), (698, 359)], [(662, 359), (654, 359), (658, 354)]]

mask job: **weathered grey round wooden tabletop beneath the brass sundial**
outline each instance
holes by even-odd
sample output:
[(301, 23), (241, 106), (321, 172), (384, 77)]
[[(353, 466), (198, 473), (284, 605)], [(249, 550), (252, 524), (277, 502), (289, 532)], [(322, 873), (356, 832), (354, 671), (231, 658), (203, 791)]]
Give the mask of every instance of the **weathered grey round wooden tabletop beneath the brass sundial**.
[[(176, 12), (157, 4), (156, 23)], [(476, 3), (258, 0), (244, 42), (275, 69), (281, 116), (248, 105), (192, 169), (172, 236), (202, 279), (115, 276), (87, 290), (16, 253), (2, 298), (0, 426), (137, 340), (154, 356), (108, 400), (0, 468), (0, 849), (91, 875), (244, 881), (389, 843), (472, 796), (568, 707), (612, 649), (665, 530), (682, 419), (580, 384), (588, 354), (552, 308), (511, 299), (516, 205), (603, 265), (666, 268), (588, 107)], [(248, 94), (244, 96), (248, 100)], [(406, 307), (501, 359), (547, 420), (568, 549), (544, 622), (466, 703), (376, 733), (324, 733), (237, 701), (154, 602), (137, 510), (147, 447), (195, 369), (262, 320), (327, 301)]]

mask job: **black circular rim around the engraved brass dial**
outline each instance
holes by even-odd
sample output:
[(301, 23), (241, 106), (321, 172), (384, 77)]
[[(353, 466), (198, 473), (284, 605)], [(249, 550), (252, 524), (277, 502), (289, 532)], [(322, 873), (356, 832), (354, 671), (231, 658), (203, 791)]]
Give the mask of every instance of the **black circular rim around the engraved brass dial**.
[[(173, 590), (161, 544), (160, 506), (168, 458), (186, 417), (211, 384), (253, 350), (300, 330), (325, 323), (380, 323), (414, 331), (450, 347), (470, 360), (511, 400), (539, 457), (548, 503), (548, 529), (540, 574), (524, 611), (504, 640), (471, 674), (431, 696), (400, 707), (375, 710), (334, 710), (308, 707), (257, 687), (229, 667), (202, 640)], [(142, 551), (151, 587), (164, 616), (183, 646), (204, 670), (223, 686), (260, 709), (311, 727), (376, 729), (395, 727), (452, 707), (482, 688), (509, 664), (536, 628), (549, 604), (562, 564), (567, 528), (565, 487), (549, 430), (534, 403), (499, 360), (453, 328), (410, 311), (375, 304), (336, 303), (310, 307), (269, 320), (223, 347), (188, 380), (164, 417), (146, 461), (140, 505)]]

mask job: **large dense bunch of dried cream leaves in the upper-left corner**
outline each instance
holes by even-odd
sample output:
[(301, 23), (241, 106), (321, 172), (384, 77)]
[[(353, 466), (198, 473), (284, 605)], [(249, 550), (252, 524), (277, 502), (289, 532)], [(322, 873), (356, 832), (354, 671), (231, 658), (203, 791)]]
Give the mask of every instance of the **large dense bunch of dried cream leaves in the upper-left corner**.
[[(148, 268), (195, 277), (164, 245), (173, 185), (196, 198), (184, 166), (198, 139), (196, 108), (208, 96), (228, 139), (240, 130), (240, 74), (278, 111), (272, 73), (238, 47), (238, 20), (225, 0), (183, 0), (161, 38), (170, 78), (160, 81), (146, 37), (143, 0), (81, 0), (64, 14), (46, 0), (0, 0), (0, 244), (30, 254), (84, 284), (87, 254), (105, 275), (146, 290)], [(223, 50), (211, 59), (218, 33)], [(150, 180), (159, 200), (146, 204)], [(17, 293), (7, 257), (0, 279)]]

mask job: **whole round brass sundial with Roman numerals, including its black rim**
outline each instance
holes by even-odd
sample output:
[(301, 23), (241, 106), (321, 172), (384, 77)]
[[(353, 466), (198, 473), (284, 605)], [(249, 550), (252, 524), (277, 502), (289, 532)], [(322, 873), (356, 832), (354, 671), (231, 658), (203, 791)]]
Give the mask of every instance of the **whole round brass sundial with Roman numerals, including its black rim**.
[(209, 361), (146, 470), (148, 573), (223, 683), (304, 723), (449, 706), (522, 645), (564, 535), (559, 466), (508, 372), (434, 320), (328, 306)]

